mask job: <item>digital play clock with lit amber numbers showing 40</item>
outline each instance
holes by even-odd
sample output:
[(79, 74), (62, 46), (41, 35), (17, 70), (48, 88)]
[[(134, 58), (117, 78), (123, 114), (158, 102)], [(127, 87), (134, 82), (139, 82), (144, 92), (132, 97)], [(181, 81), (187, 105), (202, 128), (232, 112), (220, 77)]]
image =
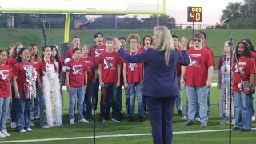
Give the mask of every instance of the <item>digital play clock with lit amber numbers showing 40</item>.
[(187, 22), (202, 22), (202, 7), (187, 7)]

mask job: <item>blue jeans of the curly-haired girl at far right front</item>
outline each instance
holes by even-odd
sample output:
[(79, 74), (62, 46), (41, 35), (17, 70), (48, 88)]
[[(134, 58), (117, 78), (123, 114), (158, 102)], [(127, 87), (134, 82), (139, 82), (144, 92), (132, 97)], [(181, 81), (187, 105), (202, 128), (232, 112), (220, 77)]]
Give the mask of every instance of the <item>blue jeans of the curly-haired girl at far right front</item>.
[(234, 91), (235, 126), (245, 130), (251, 129), (252, 95)]

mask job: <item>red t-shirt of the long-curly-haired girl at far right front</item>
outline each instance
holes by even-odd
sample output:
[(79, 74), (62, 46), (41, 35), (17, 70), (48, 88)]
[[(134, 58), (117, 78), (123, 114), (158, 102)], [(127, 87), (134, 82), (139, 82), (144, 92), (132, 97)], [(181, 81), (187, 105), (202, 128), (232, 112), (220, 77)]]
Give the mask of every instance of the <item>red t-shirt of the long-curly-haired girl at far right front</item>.
[[(254, 58), (238, 58), (238, 66), (241, 72), (243, 81), (250, 81), (250, 74), (256, 74)], [(241, 82), (241, 78), (238, 74), (236, 62), (233, 62), (232, 71), (234, 73), (232, 86), (234, 91), (241, 92), (238, 88), (238, 84)]]

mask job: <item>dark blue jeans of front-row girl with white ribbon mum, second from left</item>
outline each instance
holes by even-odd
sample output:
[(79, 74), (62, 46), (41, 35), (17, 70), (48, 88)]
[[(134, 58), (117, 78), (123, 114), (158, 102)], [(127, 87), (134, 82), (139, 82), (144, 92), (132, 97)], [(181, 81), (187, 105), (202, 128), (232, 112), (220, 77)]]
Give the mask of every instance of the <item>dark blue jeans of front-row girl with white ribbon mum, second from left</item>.
[(32, 109), (32, 100), (24, 100), (24, 92), (22, 90), (18, 90), (20, 99), (16, 99), (16, 129), (22, 130), (30, 127), (30, 117), (31, 117), (31, 109)]

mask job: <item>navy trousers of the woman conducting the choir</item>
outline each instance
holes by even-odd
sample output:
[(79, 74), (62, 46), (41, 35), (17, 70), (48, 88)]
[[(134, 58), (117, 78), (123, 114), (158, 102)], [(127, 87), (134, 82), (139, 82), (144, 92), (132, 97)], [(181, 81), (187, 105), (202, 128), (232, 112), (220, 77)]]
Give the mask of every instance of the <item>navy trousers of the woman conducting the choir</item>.
[(145, 97), (154, 144), (171, 144), (176, 97)]

